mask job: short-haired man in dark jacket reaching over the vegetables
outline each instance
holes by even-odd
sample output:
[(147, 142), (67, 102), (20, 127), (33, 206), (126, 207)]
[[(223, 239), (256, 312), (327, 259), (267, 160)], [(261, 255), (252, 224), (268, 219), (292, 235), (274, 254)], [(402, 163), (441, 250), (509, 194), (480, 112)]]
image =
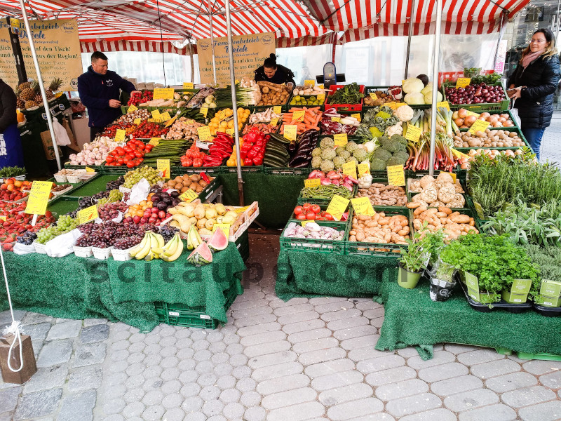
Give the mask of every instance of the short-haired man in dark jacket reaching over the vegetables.
[(107, 55), (95, 51), (88, 72), (78, 78), (78, 93), (90, 116), (90, 140), (121, 115), (121, 89), (127, 93), (137, 92), (133, 83), (107, 69)]

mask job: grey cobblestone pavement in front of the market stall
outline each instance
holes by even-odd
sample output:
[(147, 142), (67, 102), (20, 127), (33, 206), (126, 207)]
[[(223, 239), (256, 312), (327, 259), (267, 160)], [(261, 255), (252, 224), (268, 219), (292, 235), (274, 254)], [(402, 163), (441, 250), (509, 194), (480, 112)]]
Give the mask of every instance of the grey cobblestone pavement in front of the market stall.
[(278, 238), (250, 238), (264, 279), (217, 330), (160, 325), (142, 334), (18, 312), (39, 371), (22, 386), (0, 383), (0, 421), (561, 420), (560, 362), (452, 344), (435, 346), (429, 361), (412, 348), (376, 351), (384, 307), (279, 300)]

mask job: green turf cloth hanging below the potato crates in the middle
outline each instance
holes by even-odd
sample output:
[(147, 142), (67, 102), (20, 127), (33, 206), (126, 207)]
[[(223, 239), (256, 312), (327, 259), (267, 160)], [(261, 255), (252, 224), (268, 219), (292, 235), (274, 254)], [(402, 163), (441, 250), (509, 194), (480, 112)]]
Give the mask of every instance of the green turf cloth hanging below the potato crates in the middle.
[(383, 281), (397, 279), (398, 260), (366, 255), (332, 255), (280, 250), (275, 291), (295, 297), (372, 297)]

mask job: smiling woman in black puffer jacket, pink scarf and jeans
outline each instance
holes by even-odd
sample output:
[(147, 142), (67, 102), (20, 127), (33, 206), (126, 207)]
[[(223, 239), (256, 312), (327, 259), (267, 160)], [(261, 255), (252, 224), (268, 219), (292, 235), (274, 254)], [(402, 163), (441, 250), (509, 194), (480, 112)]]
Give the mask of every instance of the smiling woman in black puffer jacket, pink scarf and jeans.
[(561, 78), (555, 35), (538, 29), (522, 51), (518, 67), (508, 78), (508, 96), (515, 100), (524, 137), (539, 159), (539, 147), (553, 115), (553, 94)]

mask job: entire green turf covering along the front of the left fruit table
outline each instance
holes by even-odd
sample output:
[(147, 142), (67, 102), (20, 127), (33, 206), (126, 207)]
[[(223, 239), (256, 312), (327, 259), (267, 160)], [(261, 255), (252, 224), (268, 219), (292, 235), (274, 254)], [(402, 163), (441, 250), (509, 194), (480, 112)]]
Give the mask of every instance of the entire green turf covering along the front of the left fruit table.
[[(66, 319), (104, 317), (147, 332), (158, 325), (154, 301), (205, 306), (213, 319), (227, 322), (224, 290), (239, 280), (245, 264), (234, 243), (213, 255), (211, 265), (194, 267), (187, 248), (175, 262), (161, 260), (49, 258), (4, 253), (13, 304), (18, 309)], [(8, 308), (4, 282), (1, 309)]]

